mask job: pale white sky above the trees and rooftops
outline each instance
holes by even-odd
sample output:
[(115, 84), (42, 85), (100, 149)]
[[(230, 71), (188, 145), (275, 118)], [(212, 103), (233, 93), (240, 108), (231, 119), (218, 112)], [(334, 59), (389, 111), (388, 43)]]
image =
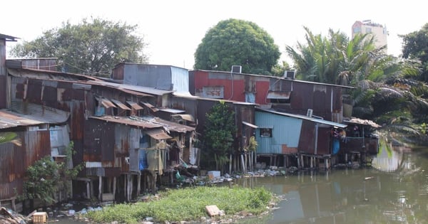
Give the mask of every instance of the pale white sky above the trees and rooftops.
[[(401, 3), (399, 3), (401, 2)], [(149, 63), (193, 69), (194, 53), (209, 28), (219, 21), (238, 18), (252, 21), (272, 36), (290, 62), (285, 46), (306, 43), (303, 26), (314, 34), (327, 35), (329, 28), (351, 36), (355, 21), (370, 19), (387, 27), (388, 53), (398, 56), (399, 34), (419, 31), (428, 23), (427, 7), (420, 0), (216, 0), (216, 1), (91, 1), (14, 0), (1, 3), (0, 33), (32, 41), (42, 31), (73, 24), (82, 18), (103, 18), (138, 25), (148, 47)], [(7, 42), (7, 50), (16, 43)], [(6, 55), (6, 58), (11, 58)]]

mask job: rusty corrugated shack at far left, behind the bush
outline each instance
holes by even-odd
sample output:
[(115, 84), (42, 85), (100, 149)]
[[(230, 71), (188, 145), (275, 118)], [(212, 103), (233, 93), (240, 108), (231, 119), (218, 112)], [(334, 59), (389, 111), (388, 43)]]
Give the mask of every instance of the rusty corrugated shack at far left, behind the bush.
[[(16, 196), (23, 193), (27, 168), (45, 156), (63, 161), (70, 143), (68, 112), (31, 103), (16, 112), (20, 109), (12, 105), (11, 110), (0, 110), (0, 132), (14, 132), (19, 141), (0, 144), (0, 204), (15, 211), (22, 210), (21, 203), (16, 207)], [(60, 192), (56, 199), (62, 201), (67, 195)]]

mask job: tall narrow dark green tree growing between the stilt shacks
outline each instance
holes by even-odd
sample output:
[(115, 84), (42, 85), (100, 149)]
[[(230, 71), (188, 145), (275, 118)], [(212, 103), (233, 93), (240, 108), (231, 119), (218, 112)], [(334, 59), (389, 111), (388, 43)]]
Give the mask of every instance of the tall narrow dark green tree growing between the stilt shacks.
[(206, 114), (207, 120), (202, 137), (206, 159), (215, 161), (215, 168), (223, 171), (232, 152), (236, 132), (235, 112), (225, 102), (216, 103)]

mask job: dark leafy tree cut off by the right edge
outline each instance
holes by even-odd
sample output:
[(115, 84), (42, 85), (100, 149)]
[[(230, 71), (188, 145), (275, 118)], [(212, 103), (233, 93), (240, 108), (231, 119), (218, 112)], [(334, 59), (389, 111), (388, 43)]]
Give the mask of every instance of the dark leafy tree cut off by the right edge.
[(428, 23), (419, 31), (399, 37), (403, 41), (402, 57), (417, 60), (421, 70), (419, 80), (428, 82)]

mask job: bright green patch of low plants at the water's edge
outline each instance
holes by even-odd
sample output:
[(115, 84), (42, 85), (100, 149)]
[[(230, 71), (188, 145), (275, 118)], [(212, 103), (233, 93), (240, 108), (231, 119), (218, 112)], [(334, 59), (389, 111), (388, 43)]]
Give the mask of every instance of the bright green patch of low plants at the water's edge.
[(160, 193), (157, 201), (117, 204), (86, 215), (95, 223), (138, 223), (146, 217), (156, 222), (192, 221), (207, 217), (205, 206), (215, 205), (231, 216), (240, 211), (258, 215), (274, 198), (265, 188), (208, 187), (182, 188)]

